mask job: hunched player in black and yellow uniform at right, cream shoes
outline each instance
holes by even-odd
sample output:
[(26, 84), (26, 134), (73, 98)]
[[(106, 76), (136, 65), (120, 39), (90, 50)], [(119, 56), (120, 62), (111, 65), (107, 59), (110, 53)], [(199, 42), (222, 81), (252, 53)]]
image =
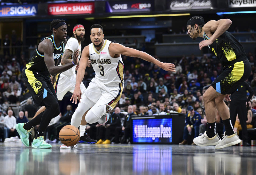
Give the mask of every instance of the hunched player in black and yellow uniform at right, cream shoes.
[[(223, 99), (230, 101), (230, 94), (234, 93), (249, 77), (251, 66), (243, 46), (226, 31), (231, 24), (230, 19), (211, 20), (204, 23), (204, 19), (200, 16), (194, 16), (187, 22), (188, 35), (192, 39), (204, 38), (199, 43), (199, 49), (209, 47), (223, 66), (223, 72), (203, 94), (207, 130), (194, 139), (194, 143), (198, 146), (215, 145), (216, 149), (220, 149), (241, 142), (234, 133), (229, 109)], [(217, 109), (226, 129), (222, 140), (215, 131)]]

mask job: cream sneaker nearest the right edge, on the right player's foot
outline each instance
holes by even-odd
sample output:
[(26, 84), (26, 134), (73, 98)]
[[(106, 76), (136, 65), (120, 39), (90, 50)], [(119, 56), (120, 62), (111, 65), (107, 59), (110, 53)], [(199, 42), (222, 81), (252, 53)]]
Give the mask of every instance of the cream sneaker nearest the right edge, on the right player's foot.
[(239, 144), (240, 142), (241, 140), (237, 136), (237, 132), (235, 132), (231, 136), (226, 136), (226, 132), (224, 132), (224, 136), (222, 137), (222, 140), (220, 141), (219, 144), (215, 145), (215, 148), (221, 149), (228, 146)]

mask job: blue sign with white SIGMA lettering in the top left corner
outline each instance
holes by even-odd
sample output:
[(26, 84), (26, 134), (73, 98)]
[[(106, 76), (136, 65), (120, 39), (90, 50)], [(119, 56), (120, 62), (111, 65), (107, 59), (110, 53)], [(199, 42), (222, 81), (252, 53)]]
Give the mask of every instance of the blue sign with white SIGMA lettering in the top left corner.
[(1, 6), (0, 17), (32, 16), (37, 14), (37, 5)]

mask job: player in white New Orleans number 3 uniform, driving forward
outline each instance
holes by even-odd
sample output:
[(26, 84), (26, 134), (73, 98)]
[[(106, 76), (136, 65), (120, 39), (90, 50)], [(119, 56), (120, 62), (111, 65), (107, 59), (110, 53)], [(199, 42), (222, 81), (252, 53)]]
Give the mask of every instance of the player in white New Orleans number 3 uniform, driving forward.
[[(162, 63), (145, 52), (104, 40), (103, 27), (99, 24), (94, 24), (90, 28), (90, 39), (92, 43), (82, 51), (76, 75), (76, 87), (70, 99), (73, 99), (73, 103), (77, 103), (77, 99), (81, 103), (71, 119), (71, 125), (76, 127), (79, 126), (82, 115), (92, 106), (85, 115), (87, 123), (99, 121), (99, 124), (103, 125), (108, 121), (109, 112), (115, 107), (123, 91), (124, 64), (121, 54), (138, 57), (166, 71), (175, 72), (175, 66), (172, 63)], [(89, 58), (96, 75), (81, 98), (80, 83), (84, 78)]]

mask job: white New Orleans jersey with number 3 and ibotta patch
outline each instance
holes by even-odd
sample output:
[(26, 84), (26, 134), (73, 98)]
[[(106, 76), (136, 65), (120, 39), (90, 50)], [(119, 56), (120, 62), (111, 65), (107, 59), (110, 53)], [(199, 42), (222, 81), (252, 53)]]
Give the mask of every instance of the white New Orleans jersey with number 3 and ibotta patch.
[(95, 71), (95, 78), (107, 87), (115, 87), (123, 83), (124, 64), (121, 55), (117, 58), (109, 55), (110, 43), (111, 41), (105, 39), (99, 51), (94, 48), (93, 43), (89, 44), (89, 56)]

